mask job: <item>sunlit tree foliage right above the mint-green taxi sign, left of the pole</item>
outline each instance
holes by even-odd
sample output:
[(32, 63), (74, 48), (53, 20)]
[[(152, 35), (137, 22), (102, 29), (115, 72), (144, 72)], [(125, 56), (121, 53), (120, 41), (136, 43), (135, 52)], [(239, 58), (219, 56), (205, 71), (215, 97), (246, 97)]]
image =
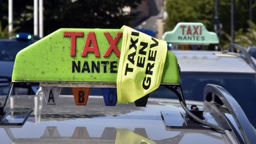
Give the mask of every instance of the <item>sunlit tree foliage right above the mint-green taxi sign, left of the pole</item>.
[(214, 1), (212, 0), (167, 0), (168, 17), (165, 31), (172, 30), (180, 22), (201, 22), (213, 30)]

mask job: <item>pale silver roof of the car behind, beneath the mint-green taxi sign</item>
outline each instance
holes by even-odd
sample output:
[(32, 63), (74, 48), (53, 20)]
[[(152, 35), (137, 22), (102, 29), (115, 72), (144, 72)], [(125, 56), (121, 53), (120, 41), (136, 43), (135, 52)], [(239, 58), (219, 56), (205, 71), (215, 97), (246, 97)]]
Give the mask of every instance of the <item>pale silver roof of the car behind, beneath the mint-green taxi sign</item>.
[(235, 53), (197, 50), (173, 50), (181, 72), (255, 73), (248, 63)]

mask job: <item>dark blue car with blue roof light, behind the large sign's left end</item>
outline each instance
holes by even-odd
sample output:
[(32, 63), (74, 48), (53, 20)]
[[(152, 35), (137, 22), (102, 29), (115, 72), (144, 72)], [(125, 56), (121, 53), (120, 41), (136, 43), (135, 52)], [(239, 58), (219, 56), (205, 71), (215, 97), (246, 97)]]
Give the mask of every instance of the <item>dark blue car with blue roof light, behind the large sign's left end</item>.
[[(18, 33), (16, 39), (0, 39), (0, 95), (8, 93), (15, 56), (35, 41), (28, 33)], [(22, 84), (14, 89), (14, 93), (35, 94), (38, 88), (38, 85)]]

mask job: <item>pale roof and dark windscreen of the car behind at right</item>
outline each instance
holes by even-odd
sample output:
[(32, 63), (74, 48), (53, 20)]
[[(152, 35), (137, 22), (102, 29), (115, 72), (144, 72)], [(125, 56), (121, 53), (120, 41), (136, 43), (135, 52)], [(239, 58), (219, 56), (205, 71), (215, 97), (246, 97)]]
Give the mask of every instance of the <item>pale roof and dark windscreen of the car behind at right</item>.
[(256, 72), (237, 53), (198, 50), (172, 50), (181, 68), (184, 97), (203, 101), (206, 84), (227, 89), (243, 108), (251, 124), (256, 126), (254, 110)]

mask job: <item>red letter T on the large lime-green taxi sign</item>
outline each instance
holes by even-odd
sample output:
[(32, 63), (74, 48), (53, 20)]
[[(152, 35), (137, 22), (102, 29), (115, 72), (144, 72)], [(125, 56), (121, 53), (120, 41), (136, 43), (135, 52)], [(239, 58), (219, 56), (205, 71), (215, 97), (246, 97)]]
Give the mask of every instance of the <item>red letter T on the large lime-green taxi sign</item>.
[(65, 31), (63, 33), (65, 37), (71, 37), (71, 56), (76, 55), (76, 37), (84, 36), (83, 32)]

